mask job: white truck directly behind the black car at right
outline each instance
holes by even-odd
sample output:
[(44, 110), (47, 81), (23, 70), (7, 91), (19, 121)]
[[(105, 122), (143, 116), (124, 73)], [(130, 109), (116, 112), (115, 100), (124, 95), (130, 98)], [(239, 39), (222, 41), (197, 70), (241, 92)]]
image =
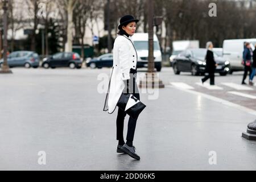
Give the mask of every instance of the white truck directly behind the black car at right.
[(188, 48), (199, 48), (199, 40), (176, 40), (172, 42), (170, 65), (172, 66), (172, 61), (180, 52)]

